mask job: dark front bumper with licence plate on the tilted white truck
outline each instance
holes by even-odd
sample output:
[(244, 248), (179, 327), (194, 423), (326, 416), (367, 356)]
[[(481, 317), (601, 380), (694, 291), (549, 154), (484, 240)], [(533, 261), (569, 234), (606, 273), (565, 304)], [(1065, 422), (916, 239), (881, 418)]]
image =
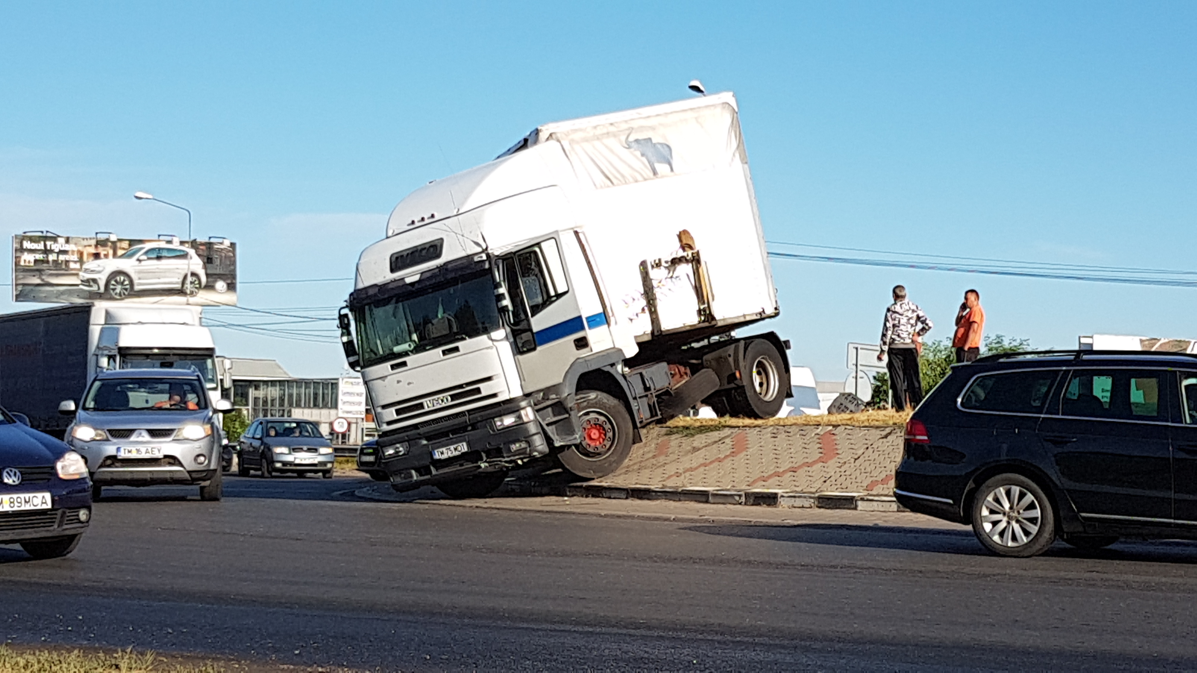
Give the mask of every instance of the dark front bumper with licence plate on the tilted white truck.
[(390, 477), (393, 489), (411, 491), (480, 472), (510, 469), (547, 455), (548, 442), (535, 418), (502, 430), (494, 428), (496, 418), (518, 413), (525, 406), (509, 402), (480, 410), (470, 413), (463, 425), (437, 428), (424, 436), (379, 436), (378, 467)]

